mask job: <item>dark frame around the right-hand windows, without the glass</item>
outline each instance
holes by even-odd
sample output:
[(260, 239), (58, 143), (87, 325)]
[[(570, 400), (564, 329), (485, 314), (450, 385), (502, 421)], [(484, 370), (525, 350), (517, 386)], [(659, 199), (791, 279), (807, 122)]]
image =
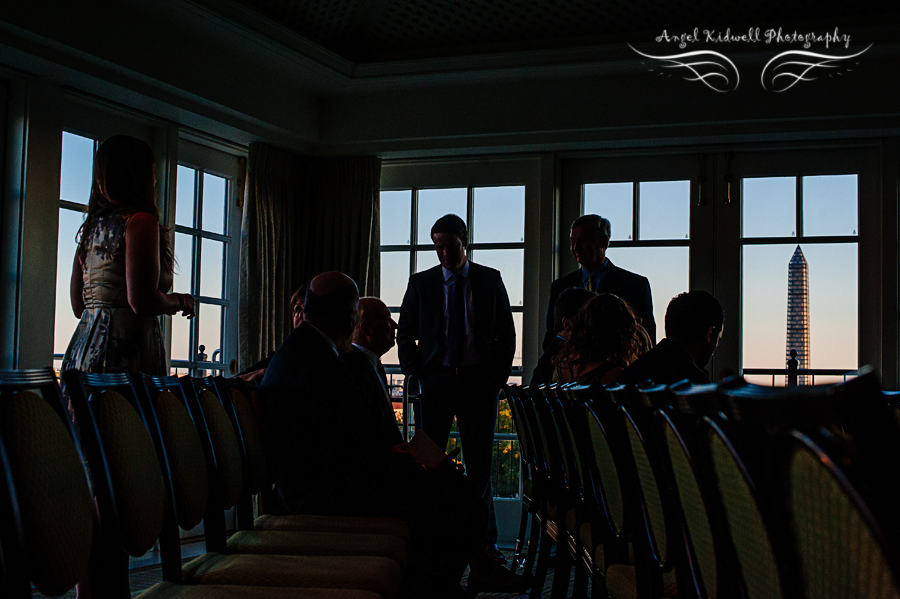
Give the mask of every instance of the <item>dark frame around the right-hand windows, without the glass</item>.
[[(715, 378), (723, 368), (740, 375), (743, 369), (742, 248), (745, 241), (798, 243), (801, 238), (748, 238), (741, 236), (741, 185), (746, 177), (858, 176), (859, 261), (858, 362), (881, 369), (897, 361), (897, 351), (882, 347), (882, 322), (896, 326), (896, 316), (882, 306), (882, 209), (879, 189), (879, 143), (853, 142), (742, 144), (672, 150), (621, 150), (579, 157), (563, 163), (559, 223), (561, 274), (577, 268), (567, 248), (568, 225), (583, 206), (585, 183), (614, 181), (691, 180), (689, 289), (706, 289), (725, 308), (725, 330), (710, 361)], [(681, 165), (679, 167), (679, 165)], [(796, 216), (802, 218), (802, 213)], [(801, 229), (798, 229), (801, 230)], [(816, 236), (805, 240), (847, 243), (852, 236)], [(640, 247), (644, 242), (618, 241), (610, 247)], [(657, 241), (650, 245), (665, 245)], [(680, 245), (672, 243), (671, 245)], [(888, 279), (885, 279), (888, 280)], [(890, 277), (896, 280), (896, 273)], [(651, 282), (652, 286), (652, 282)], [(670, 298), (654, 297), (657, 303)], [(867, 314), (866, 318), (862, 315)], [(890, 320), (888, 320), (888, 318)], [(657, 322), (657, 328), (663, 323)]]

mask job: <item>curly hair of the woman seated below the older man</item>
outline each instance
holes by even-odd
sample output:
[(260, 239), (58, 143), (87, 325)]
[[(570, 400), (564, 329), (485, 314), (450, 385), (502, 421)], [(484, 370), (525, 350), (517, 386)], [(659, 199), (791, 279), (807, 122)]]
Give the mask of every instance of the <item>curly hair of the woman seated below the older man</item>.
[(639, 326), (634, 311), (625, 300), (611, 293), (601, 293), (575, 315), (572, 336), (553, 361), (571, 368), (602, 360), (625, 368), (642, 353)]

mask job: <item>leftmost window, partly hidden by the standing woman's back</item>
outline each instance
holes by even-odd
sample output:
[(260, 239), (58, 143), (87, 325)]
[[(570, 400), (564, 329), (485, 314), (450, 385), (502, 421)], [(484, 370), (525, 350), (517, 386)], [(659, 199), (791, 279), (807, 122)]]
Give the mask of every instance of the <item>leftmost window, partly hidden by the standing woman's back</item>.
[(56, 314), (53, 331), (53, 367), (62, 366), (66, 348), (78, 326), (72, 312), (69, 281), (75, 260), (75, 237), (87, 214), (97, 141), (68, 131), (62, 134), (59, 176), (59, 241), (56, 250)]

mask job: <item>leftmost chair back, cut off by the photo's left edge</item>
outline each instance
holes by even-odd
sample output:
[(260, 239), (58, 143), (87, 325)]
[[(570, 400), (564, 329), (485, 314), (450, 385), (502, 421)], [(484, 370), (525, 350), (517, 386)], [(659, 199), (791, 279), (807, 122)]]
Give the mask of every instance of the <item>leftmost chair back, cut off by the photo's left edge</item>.
[(30, 597), (31, 581), (61, 595), (87, 570), (94, 524), (81, 445), (52, 369), (0, 371), (0, 461), (0, 590)]

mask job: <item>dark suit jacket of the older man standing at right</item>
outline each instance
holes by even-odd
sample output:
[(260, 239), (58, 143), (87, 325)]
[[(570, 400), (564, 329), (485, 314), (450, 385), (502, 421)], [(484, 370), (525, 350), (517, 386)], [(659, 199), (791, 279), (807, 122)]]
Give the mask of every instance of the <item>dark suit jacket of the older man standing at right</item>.
[[(581, 269), (553, 281), (550, 285), (550, 306), (547, 309), (547, 332), (544, 334), (543, 348), (547, 349), (556, 331), (553, 330), (553, 308), (564, 289), (581, 287)], [(606, 266), (606, 276), (599, 293), (612, 293), (631, 304), (641, 324), (650, 334), (650, 342), (656, 343), (656, 321), (653, 320), (653, 298), (650, 296), (650, 282), (647, 277), (619, 268), (610, 260)]]

